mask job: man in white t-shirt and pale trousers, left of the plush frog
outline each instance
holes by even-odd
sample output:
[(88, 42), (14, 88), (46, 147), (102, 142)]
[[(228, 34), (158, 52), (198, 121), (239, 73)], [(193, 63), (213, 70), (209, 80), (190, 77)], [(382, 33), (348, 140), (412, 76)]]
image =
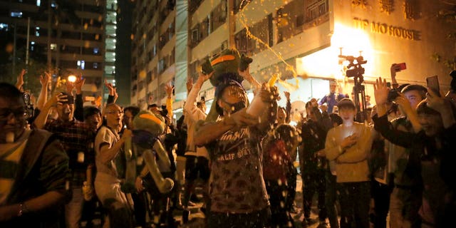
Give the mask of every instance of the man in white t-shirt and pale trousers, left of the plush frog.
[(123, 110), (119, 105), (110, 103), (105, 108), (106, 125), (103, 125), (95, 137), (95, 192), (98, 199), (108, 210), (110, 227), (133, 227), (133, 212), (130, 200), (120, 190), (118, 165), (115, 160), (121, 155), (125, 140), (131, 138), (131, 130), (123, 126)]

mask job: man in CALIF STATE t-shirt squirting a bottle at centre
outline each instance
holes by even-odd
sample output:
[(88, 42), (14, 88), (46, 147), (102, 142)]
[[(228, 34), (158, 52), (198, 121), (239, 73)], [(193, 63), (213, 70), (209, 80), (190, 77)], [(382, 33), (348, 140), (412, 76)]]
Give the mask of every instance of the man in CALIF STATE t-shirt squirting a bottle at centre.
[[(275, 93), (274, 93), (275, 92)], [(259, 91), (266, 108), (247, 114), (247, 93), (234, 80), (217, 86), (217, 113), (222, 117), (197, 129), (195, 145), (207, 147), (211, 162), (208, 227), (267, 227), (269, 202), (261, 165), (261, 140), (275, 121), (276, 88)], [(261, 120), (261, 121), (259, 121)]]

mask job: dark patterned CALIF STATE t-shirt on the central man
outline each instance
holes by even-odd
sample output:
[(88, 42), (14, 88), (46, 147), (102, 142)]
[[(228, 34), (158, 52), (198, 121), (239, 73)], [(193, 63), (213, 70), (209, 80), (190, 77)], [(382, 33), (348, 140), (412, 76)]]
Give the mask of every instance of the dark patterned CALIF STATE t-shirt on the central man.
[(249, 213), (269, 205), (261, 166), (261, 138), (253, 128), (228, 131), (211, 152), (213, 212)]

